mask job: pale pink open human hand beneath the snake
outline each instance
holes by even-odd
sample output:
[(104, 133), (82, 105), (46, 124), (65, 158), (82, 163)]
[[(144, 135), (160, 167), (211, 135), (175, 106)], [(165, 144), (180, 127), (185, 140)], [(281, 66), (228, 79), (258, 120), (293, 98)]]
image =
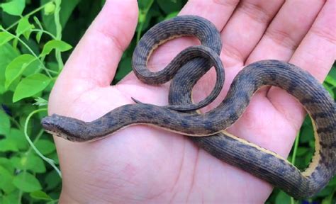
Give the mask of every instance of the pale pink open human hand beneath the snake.
[[(221, 30), (225, 89), (207, 108), (223, 100), (235, 74), (251, 62), (289, 61), (320, 81), (330, 69), (335, 60), (335, 36), (330, 34), (335, 29), (335, 2), (267, 2), (189, 1), (182, 9), (181, 15), (203, 16)], [(57, 79), (50, 114), (94, 120), (132, 103), (131, 96), (167, 104), (169, 84), (148, 86), (131, 73), (110, 86), (137, 18), (137, 1), (106, 1)], [(195, 43), (191, 38), (167, 42), (153, 55), (150, 69), (162, 69)], [(195, 101), (210, 93), (214, 81), (213, 72), (198, 81)], [(254, 95), (229, 132), (286, 157), (304, 115), (294, 98), (268, 87)], [(55, 137), (55, 143), (63, 175), (61, 203), (263, 203), (272, 190), (268, 183), (220, 162), (186, 137), (146, 125), (125, 128), (96, 142)]]

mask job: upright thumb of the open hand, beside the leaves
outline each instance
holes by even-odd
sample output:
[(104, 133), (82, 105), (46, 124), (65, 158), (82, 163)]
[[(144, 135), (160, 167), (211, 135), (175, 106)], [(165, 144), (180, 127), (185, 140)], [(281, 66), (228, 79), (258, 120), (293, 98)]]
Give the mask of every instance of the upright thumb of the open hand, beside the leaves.
[[(137, 20), (137, 1), (106, 1), (69, 57), (53, 94), (69, 94), (67, 100), (71, 101), (89, 89), (109, 86)], [(65, 89), (67, 93), (62, 91)]]

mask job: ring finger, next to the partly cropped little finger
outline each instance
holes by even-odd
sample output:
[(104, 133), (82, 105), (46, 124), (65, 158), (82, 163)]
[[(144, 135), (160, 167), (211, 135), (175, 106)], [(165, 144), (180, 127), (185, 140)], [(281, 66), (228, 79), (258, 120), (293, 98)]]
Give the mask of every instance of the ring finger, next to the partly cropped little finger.
[(286, 1), (246, 64), (265, 59), (288, 61), (322, 7), (323, 1)]

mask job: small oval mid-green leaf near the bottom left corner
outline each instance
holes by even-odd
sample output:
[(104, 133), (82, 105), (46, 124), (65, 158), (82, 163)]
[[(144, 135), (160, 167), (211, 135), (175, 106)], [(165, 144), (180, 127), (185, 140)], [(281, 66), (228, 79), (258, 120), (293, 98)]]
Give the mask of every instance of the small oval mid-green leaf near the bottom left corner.
[(22, 172), (21, 174), (18, 174), (18, 176), (15, 176), (13, 184), (16, 188), (28, 193), (38, 191), (42, 188), (40, 181), (28, 172)]

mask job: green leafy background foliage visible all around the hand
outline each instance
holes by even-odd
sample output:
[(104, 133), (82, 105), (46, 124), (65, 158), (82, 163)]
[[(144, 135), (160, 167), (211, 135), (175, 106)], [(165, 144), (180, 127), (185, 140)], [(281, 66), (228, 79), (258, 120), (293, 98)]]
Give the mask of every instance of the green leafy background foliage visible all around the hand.
[[(0, 3), (0, 203), (57, 203), (61, 177), (55, 145), (43, 132), (47, 98), (72, 47), (104, 1), (13, 0)], [(186, 1), (139, 1), (137, 32), (113, 83), (130, 72), (130, 58), (142, 33), (176, 16)], [(113, 16), (111, 16), (113, 18)], [(112, 56), (111, 56), (112, 57)], [(335, 64), (325, 83), (335, 98)], [(304, 169), (314, 151), (307, 118), (289, 161)], [(336, 179), (309, 200), (293, 200), (275, 189), (267, 203), (335, 203)]]

